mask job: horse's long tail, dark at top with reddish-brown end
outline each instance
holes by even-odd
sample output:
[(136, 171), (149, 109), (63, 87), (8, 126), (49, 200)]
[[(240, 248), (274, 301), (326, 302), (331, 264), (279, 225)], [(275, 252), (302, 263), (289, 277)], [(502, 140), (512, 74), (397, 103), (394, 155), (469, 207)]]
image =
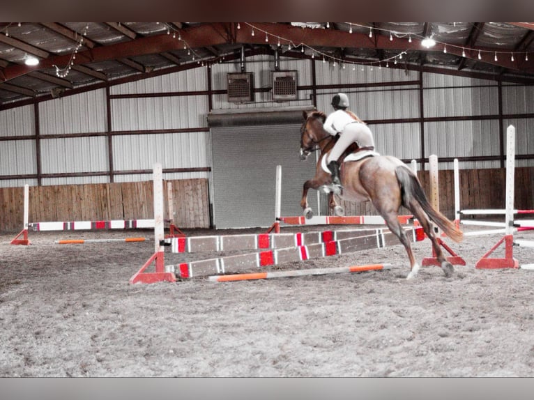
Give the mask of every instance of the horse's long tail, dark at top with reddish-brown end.
[(410, 204), (415, 200), (420, 204), (429, 218), (434, 221), (447, 236), (455, 242), (460, 242), (464, 237), (464, 233), (457, 229), (455, 224), (448, 220), (445, 215), (432, 207), (417, 176), (413, 174), (413, 171), (408, 167), (399, 165), (399, 167), (395, 169), (395, 174), (397, 174), (397, 180), (399, 180), (401, 186), (403, 206), (410, 208)]

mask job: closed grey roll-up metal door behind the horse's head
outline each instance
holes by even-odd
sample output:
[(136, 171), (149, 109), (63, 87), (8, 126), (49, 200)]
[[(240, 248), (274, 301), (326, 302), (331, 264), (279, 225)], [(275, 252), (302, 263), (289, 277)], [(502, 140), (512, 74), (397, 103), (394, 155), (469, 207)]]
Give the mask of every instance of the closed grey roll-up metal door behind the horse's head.
[[(213, 226), (217, 229), (270, 226), (275, 222), (276, 166), (282, 165), (282, 216), (302, 215), (305, 180), (315, 157), (300, 161), (300, 123), (211, 128)], [(308, 194), (317, 213), (315, 190)]]

